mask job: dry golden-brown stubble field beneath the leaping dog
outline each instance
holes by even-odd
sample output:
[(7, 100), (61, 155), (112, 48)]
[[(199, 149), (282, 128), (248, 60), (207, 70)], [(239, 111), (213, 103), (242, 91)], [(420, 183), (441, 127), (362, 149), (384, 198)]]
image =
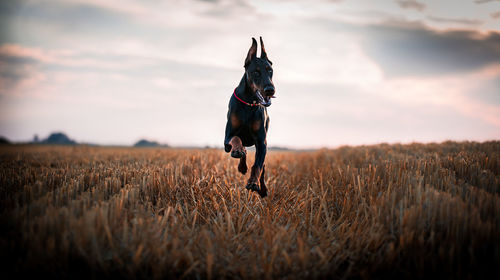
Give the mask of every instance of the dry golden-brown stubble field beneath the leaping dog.
[(219, 150), (4, 146), (0, 159), (16, 278), (498, 276), (500, 142), (269, 152), (265, 199)]

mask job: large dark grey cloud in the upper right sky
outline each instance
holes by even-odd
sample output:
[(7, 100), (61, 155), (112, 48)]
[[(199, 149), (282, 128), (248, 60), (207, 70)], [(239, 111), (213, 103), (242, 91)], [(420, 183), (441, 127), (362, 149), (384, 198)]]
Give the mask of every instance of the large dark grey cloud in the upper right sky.
[(364, 35), (365, 52), (392, 77), (461, 73), (500, 62), (499, 32), (437, 31), (414, 22), (386, 22), (367, 26)]

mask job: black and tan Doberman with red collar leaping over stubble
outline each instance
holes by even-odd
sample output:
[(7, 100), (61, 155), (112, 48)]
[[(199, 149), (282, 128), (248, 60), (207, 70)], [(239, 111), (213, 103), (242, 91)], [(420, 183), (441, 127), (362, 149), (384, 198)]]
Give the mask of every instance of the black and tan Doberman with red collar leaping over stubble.
[(267, 196), (264, 182), (267, 152), (266, 135), (269, 116), (266, 107), (274, 97), (272, 63), (267, 58), (264, 42), (260, 37), (261, 54), (257, 57), (257, 41), (252, 38), (252, 46), (245, 59), (245, 74), (229, 100), (224, 150), (234, 158), (239, 158), (238, 171), (246, 174), (246, 149), (255, 145), (255, 163), (252, 166), (246, 188), (256, 191), (261, 197)]

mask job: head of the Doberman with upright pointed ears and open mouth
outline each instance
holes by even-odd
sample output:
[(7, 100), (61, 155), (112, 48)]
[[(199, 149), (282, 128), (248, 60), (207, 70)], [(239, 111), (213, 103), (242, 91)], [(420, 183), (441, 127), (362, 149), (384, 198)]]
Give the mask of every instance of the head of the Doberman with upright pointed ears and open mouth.
[(252, 89), (260, 104), (264, 106), (271, 105), (271, 98), (274, 97), (273, 68), (272, 62), (267, 58), (264, 42), (260, 37), (260, 58), (257, 57), (257, 41), (252, 38), (252, 46), (248, 50), (245, 59), (245, 75), (247, 84)]

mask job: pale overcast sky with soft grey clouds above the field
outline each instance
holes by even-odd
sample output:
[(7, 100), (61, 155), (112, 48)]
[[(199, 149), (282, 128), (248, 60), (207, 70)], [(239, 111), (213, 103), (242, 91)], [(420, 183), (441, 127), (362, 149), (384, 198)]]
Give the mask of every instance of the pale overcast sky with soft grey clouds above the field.
[(0, 2), (0, 135), (222, 146), (251, 37), (268, 144), (500, 139), (500, 2)]

